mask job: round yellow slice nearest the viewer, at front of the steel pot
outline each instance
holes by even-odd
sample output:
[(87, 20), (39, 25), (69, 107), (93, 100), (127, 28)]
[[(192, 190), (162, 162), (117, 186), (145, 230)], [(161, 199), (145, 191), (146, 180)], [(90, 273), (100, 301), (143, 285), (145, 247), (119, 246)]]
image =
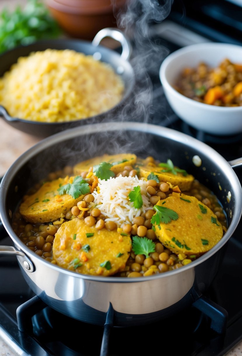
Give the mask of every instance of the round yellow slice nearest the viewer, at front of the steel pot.
[[(86, 234), (93, 236), (87, 237)], [(85, 248), (87, 245), (88, 249)], [(63, 223), (53, 243), (57, 265), (94, 276), (111, 276), (122, 271), (130, 250), (130, 236), (122, 236), (117, 231), (97, 230), (78, 218)]]

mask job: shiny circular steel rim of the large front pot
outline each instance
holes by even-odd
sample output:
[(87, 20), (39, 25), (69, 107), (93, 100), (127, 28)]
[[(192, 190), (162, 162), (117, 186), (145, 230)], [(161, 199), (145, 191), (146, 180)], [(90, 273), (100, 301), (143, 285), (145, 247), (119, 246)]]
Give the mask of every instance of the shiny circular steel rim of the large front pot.
[[(23, 164), (27, 163), (28, 160), (32, 157), (34, 157), (37, 153), (41, 152), (42, 150), (51, 147), (52, 145), (63, 142), (65, 140), (75, 138), (77, 136), (82, 136), (86, 135), (89, 133), (94, 133), (94, 132), (105, 132), (105, 131), (140, 131), (140, 132), (145, 132), (145, 133), (150, 133), (155, 136), (160, 136), (160, 137), (167, 137), (171, 140), (180, 142), (180, 143), (186, 143), (187, 146), (190, 147), (197, 147), (198, 152), (202, 151), (205, 155), (213, 157), (213, 160), (216, 161), (216, 163), (219, 165), (220, 169), (222, 171), (226, 171), (227, 174), (227, 179), (231, 183), (231, 186), (236, 189), (238, 194), (236, 195), (236, 200), (235, 200), (235, 208), (234, 208), (234, 214), (233, 218), (231, 221), (230, 226), (228, 227), (227, 231), (225, 232), (224, 236), (222, 239), (213, 247), (211, 250), (208, 252), (204, 253), (204, 255), (200, 256), (198, 260), (194, 260), (193, 262), (189, 263), (186, 266), (183, 266), (182, 268), (177, 268), (172, 271), (156, 274), (153, 276), (147, 276), (147, 277), (133, 277), (133, 278), (128, 278), (128, 277), (101, 277), (101, 276), (92, 276), (89, 274), (81, 274), (81, 273), (76, 273), (74, 271), (70, 271), (68, 269), (59, 267), (57, 265), (54, 265), (53, 263), (49, 263), (48, 261), (45, 261), (42, 257), (37, 256), (33, 251), (31, 251), (20, 239), (19, 237), (15, 234), (15, 232), (12, 229), (11, 224), (8, 221), (8, 213), (5, 209), (5, 202), (6, 202), (6, 196), (8, 192), (8, 185), (9, 182), (11, 182), (11, 177), (14, 176), (17, 171), (22, 167)], [(97, 282), (116, 282), (116, 283), (131, 283), (131, 282), (145, 282), (150, 279), (157, 279), (157, 278), (165, 278), (168, 277), (169, 275), (173, 275), (176, 273), (182, 273), (182, 271), (186, 271), (187, 269), (194, 268), (200, 263), (208, 260), (211, 256), (213, 256), (222, 246), (226, 244), (226, 242), (230, 239), (232, 236), (233, 232), (235, 231), (240, 218), (242, 214), (242, 188), (240, 181), (236, 175), (236, 173), (233, 171), (232, 167), (230, 164), (226, 161), (224, 157), (222, 157), (217, 151), (215, 151), (213, 148), (210, 146), (206, 145), (205, 143), (197, 140), (196, 138), (193, 138), (185, 133), (169, 129), (167, 127), (163, 126), (158, 126), (154, 124), (147, 124), (147, 123), (139, 123), (139, 122), (126, 122), (125, 127), (123, 127), (123, 122), (112, 122), (112, 126), (110, 126), (109, 122), (104, 122), (101, 124), (92, 124), (92, 125), (84, 125), (80, 127), (75, 127), (73, 129), (68, 129), (62, 132), (58, 132), (55, 135), (49, 136), (47, 138), (44, 138), (37, 144), (35, 144), (33, 147), (29, 148), (26, 152), (24, 152), (7, 170), (7, 172), (4, 174), (4, 177), (2, 178), (1, 184), (0, 184), (0, 219), (2, 221), (2, 224), (4, 225), (7, 233), (11, 237), (12, 241), (17, 245), (20, 250), (22, 250), (26, 255), (31, 259), (35, 260), (35, 258), (38, 258), (39, 261), (42, 261), (44, 264), (48, 264), (50, 268), (53, 268), (59, 272), (68, 274), (72, 277), (77, 277), (77, 278), (83, 278), (83, 279), (89, 279), (92, 281), (97, 281)]]

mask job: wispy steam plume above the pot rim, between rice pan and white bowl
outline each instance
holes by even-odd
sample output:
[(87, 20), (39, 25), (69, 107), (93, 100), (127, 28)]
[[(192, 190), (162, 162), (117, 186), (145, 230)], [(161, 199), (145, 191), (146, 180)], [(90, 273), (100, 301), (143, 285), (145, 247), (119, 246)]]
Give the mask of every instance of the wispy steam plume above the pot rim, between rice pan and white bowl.
[(169, 15), (172, 0), (130, 0), (125, 11), (117, 7), (116, 0), (112, 0), (112, 5), (117, 26), (132, 40), (130, 63), (136, 79), (132, 109), (127, 105), (118, 121), (153, 122), (151, 117), (156, 111), (160, 112), (157, 120), (160, 122), (162, 115), (166, 114), (166, 104), (164, 99), (161, 100), (163, 91), (160, 83), (154, 88), (152, 78), (159, 82), (159, 68), (169, 50), (152, 41), (150, 27)]

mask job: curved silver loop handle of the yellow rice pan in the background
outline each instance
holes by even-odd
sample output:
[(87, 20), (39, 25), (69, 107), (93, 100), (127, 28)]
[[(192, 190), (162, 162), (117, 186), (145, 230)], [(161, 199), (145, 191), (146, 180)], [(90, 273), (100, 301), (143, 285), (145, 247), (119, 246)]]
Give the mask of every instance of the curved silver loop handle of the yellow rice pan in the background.
[(101, 40), (103, 40), (103, 38), (105, 37), (111, 37), (114, 40), (121, 43), (122, 53), (120, 57), (124, 61), (130, 58), (131, 50), (132, 50), (131, 42), (121, 30), (118, 30), (117, 28), (111, 28), (111, 27), (103, 28), (93, 38), (92, 45), (98, 46)]

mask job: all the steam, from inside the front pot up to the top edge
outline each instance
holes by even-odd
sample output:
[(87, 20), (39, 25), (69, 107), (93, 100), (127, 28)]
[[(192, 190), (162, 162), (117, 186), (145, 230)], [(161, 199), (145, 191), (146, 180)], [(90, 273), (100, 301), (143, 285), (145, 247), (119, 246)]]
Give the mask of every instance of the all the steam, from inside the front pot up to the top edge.
[[(118, 3), (118, 2), (117, 2)], [(162, 99), (161, 85), (153, 87), (152, 78), (159, 78), (159, 68), (163, 59), (169, 53), (169, 50), (160, 43), (152, 41), (150, 38), (150, 25), (163, 21), (171, 10), (172, 0), (130, 0), (127, 1), (126, 11), (121, 11), (117, 7), (116, 0), (112, 0), (114, 15), (117, 26), (125, 32), (127, 37), (131, 38), (133, 51), (130, 58), (131, 66), (134, 70), (135, 85), (131, 98), (119, 108), (115, 114), (110, 111), (104, 116), (102, 122), (108, 122), (106, 130), (103, 132), (83, 135), (70, 141), (65, 147), (62, 142), (61, 151), (53, 146), (49, 150), (49, 155), (39, 155), (44, 157), (44, 166), (48, 173), (54, 170), (54, 165), (63, 167), (65, 164), (75, 164), (85, 159), (95, 156), (101, 156), (104, 153), (115, 154), (122, 152), (135, 153), (140, 157), (154, 156), (159, 157), (157, 146), (150, 145), (154, 137), (150, 137), (145, 132), (128, 132), (125, 130), (125, 122), (138, 121), (143, 123), (158, 123), (162, 116), (166, 118), (166, 103)], [(159, 79), (158, 79), (159, 81)], [(151, 119), (152, 115), (158, 112), (158, 122)], [(110, 131), (112, 121), (121, 122), (120, 131)], [(95, 123), (95, 120), (89, 121)], [(84, 125), (85, 126), (85, 125)], [(81, 127), (80, 127), (81, 129)], [(59, 145), (57, 145), (60, 148)], [(164, 159), (166, 160), (169, 148), (163, 148)], [(50, 152), (51, 151), (51, 152)], [(36, 169), (33, 175), (42, 169), (43, 159), (38, 157), (35, 160)]]

